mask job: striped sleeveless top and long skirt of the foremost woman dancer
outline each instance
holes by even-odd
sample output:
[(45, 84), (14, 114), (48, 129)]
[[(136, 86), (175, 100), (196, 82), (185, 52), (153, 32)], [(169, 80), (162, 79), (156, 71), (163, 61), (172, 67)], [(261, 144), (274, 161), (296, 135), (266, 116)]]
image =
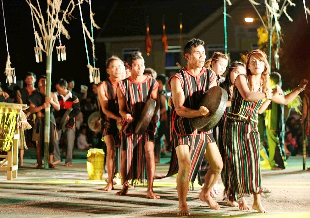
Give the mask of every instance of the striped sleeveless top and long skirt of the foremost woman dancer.
[[(257, 92), (262, 92), (262, 84)], [(261, 185), (258, 110), (263, 103), (246, 101), (235, 86), (232, 106), (224, 124), (224, 146), (229, 167), (226, 176), (228, 200), (236, 201), (253, 193), (268, 192)]]

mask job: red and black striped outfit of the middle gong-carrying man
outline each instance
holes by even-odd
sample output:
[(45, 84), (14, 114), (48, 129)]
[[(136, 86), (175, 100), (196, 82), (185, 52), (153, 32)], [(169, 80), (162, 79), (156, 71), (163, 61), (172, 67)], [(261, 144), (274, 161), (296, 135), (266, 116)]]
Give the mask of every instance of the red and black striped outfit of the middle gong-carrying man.
[(155, 117), (153, 116), (144, 135), (136, 134), (135, 127), (139, 117), (142, 115), (142, 109), (146, 100), (150, 98), (152, 91), (159, 84), (154, 78), (147, 76), (140, 83), (133, 81), (129, 77), (118, 82), (118, 86), (125, 97), (127, 111), (134, 118), (134, 122), (127, 123), (124, 121), (122, 125), (122, 150), (127, 150), (127, 180), (131, 184), (144, 182), (146, 179), (144, 175), (144, 144), (146, 141), (155, 141)]

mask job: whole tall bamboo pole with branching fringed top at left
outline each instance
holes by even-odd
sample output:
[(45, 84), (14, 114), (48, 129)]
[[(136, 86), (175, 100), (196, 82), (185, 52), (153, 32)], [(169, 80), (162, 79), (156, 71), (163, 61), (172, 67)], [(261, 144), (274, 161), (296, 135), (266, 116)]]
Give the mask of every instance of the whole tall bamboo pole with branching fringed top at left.
[[(35, 31), (34, 35), (38, 43), (38, 49), (46, 53), (46, 97), (51, 96), (51, 75), (52, 75), (52, 53), (55, 46), (55, 39), (63, 34), (70, 39), (68, 31), (65, 29), (63, 22), (69, 24), (68, 18), (72, 17), (71, 13), (74, 8), (83, 1), (75, 4), (74, 0), (66, 1), (67, 7), (62, 8), (63, 0), (47, 0), (47, 15), (43, 15), (39, 0), (37, 5), (33, 5), (30, 0), (25, 0), (30, 6), (32, 16), (37, 21), (41, 36)], [(68, 3), (69, 2), (69, 3)], [(59, 49), (61, 59), (65, 60), (65, 47), (60, 45)], [(57, 51), (58, 52), (58, 51)], [(60, 59), (60, 58), (59, 58)], [(44, 126), (44, 168), (48, 169), (49, 144), (50, 144), (50, 108), (45, 109), (45, 126)]]

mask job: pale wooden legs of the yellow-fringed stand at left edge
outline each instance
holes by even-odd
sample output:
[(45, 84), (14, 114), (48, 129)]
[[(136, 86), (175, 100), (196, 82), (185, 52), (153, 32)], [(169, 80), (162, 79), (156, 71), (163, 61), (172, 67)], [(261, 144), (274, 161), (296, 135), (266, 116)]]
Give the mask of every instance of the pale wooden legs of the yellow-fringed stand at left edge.
[[(15, 131), (16, 133), (17, 131)], [(0, 165), (0, 171), (7, 171), (7, 180), (12, 180), (12, 178), (17, 178), (17, 160), (18, 160), (18, 142), (20, 136), (19, 134), (14, 135), (14, 144), (11, 147), (11, 151), (8, 151), (6, 155), (0, 154), (0, 158), (5, 158), (5, 160)], [(4, 163), (7, 161), (7, 166), (3, 167)]]

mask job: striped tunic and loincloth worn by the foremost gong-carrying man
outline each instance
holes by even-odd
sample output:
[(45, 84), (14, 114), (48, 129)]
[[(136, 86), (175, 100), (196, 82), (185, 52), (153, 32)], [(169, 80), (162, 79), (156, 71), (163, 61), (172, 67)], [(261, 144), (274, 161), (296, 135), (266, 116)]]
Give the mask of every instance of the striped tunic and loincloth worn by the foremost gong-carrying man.
[[(183, 106), (191, 109), (200, 108), (199, 102), (202, 95), (209, 89), (210, 84), (213, 85), (216, 83), (215, 73), (212, 70), (206, 68), (202, 68), (199, 75), (195, 76), (184, 67), (169, 79), (169, 86), (173, 77), (178, 78), (181, 82), (185, 97)], [(173, 144), (173, 148), (177, 147), (178, 145), (189, 145), (191, 168), (188, 179), (191, 182), (191, 185), (193, 185), (193, 182), (197, 176), (197, 172), (206, 150), (206, 145), (208, 143), (215, 142), (213, 136), (210, 133), (211, 131), (206, 133), (198, 131), (193, 127), (190, 118), (179, 116), (175, 111), (173, 98), (171, 98), (171, 143)], [(178, 159), (175, 153), (175, 149), (173, 149), (170, 161), (170, 169), (167, 176), (171, 176), (177, 173), (178, 169)]]

